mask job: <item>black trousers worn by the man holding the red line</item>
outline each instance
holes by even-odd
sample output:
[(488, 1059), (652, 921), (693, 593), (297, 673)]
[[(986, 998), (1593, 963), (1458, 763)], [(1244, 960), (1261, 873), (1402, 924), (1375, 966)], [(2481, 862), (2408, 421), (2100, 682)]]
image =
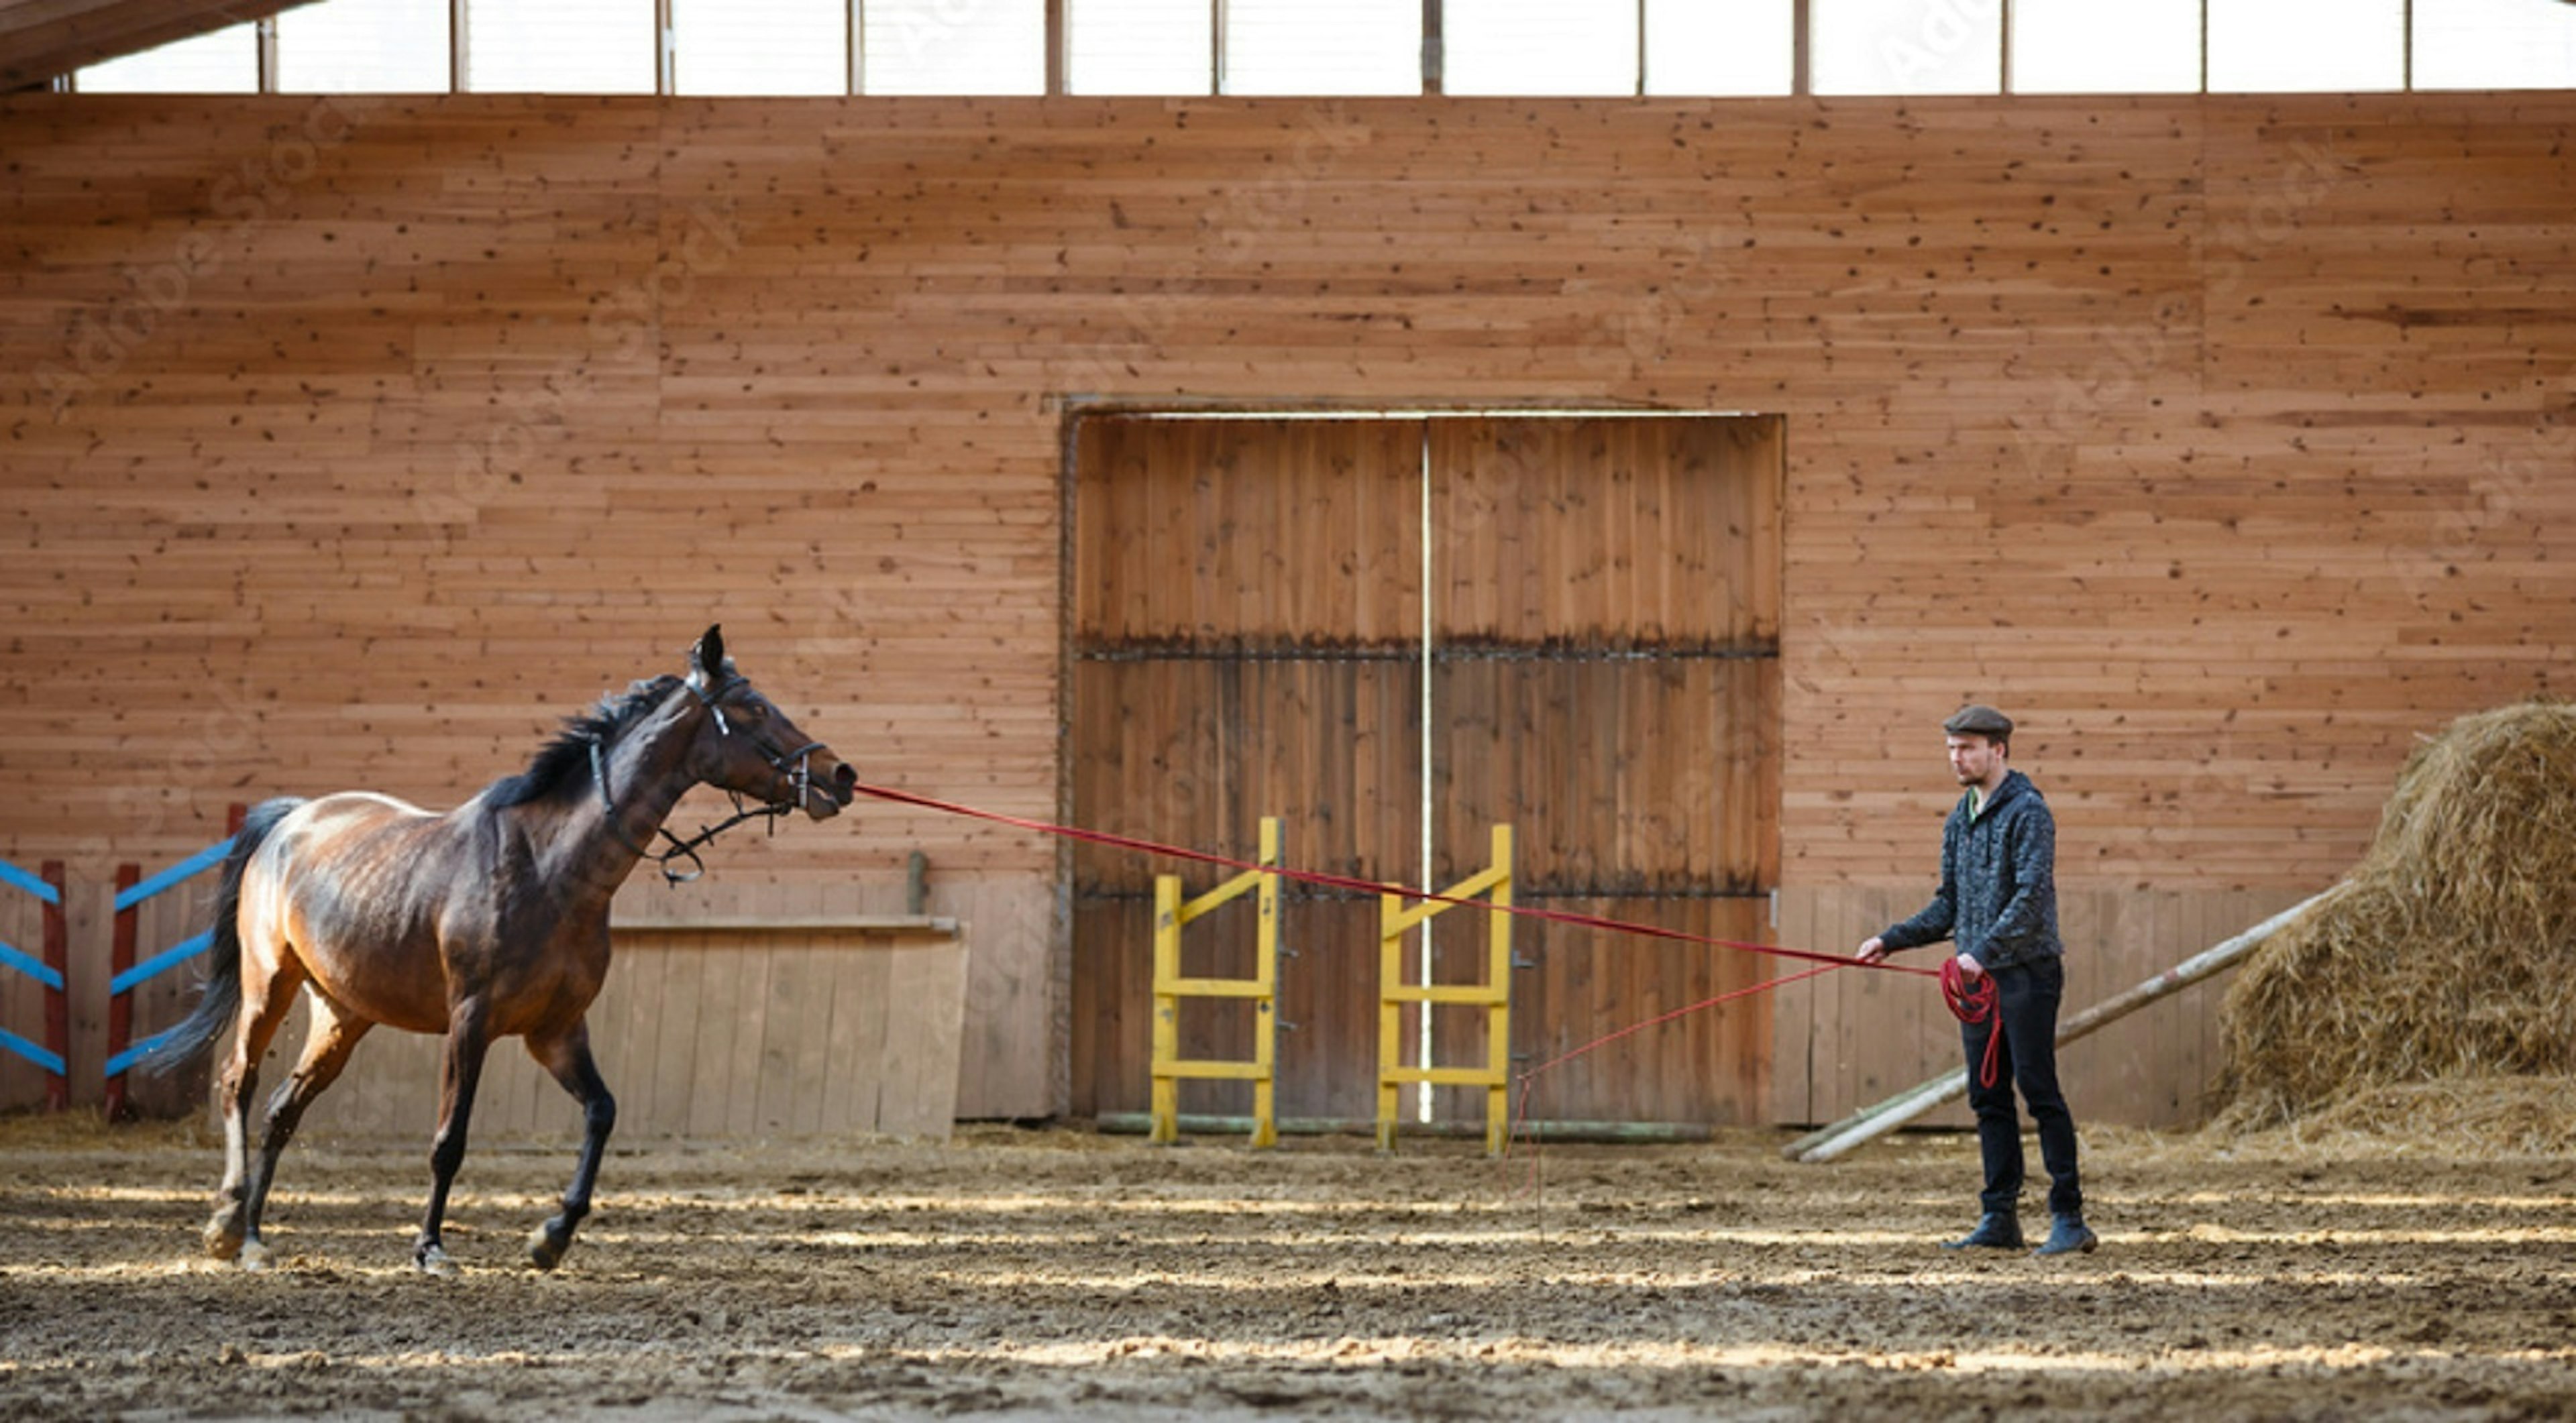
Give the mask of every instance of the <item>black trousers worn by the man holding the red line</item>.
[[(1989, 1212), (2017, 1212), (2022, 1202), (2022, 1122), (2012, 1088), (2040, 1127), (2040, 1163), (2048, 1166), (2048, 1215), (2084, 1215), (2084, 1181), (2076, 1173), (2076, 1119), (2058, 1088), (2058, 998), (2066, 996), (2066, 965), (2048, 957), (2030, 965), (1996, 968), (1994, 1019), (1960, 1024), (1968, 1050), (1968, 1106), (1976, 1109), (1976, 1145), (1986, 1158), (1986, 1189), (1978, 1204)], [(1986, 1029), (2004, 1034), (1996, 1047), (1994, 1086), (1978, 1083), (1986, 1060)]]

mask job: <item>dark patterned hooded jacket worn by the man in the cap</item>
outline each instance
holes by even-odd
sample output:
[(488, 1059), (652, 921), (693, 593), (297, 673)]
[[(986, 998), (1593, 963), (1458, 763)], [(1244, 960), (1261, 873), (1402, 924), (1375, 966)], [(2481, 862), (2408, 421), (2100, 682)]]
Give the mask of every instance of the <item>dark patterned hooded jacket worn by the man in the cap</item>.
[(1958, 798), (1940, 831), (1940, 893), (1922, 913), (1891, 926), (1888, 950), (1955, 939), (1986, 968), (2058, 957), (2058, 823), (2030, 777), (2012, 772), (1986, 813), (1968, 818), (1973, 793)]

